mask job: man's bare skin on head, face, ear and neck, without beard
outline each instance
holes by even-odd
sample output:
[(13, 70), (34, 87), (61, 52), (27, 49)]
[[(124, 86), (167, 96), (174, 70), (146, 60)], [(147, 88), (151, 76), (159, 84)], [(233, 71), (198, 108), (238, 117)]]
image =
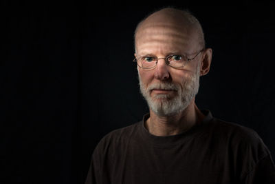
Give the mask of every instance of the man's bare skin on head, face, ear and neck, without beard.
[[(151, 14), (137, 28), (135, 57), (151, 54), (158, 58), (165, 58), (171, 52), (176, 52), (192, 58), (202, 49), (199, 38), (197, 27), (188, 23), (179, 10), (166, 8)], [(201, 63), (200, 76), (207, 74), (211, 59), (212, 50), (208, 48), (180, 70), (166, 65), (164, 59), (159, 59), (153, 70), (145, 71), (139, 67), (137, 70), (146, 88), (152, 83), (164, 81), (181, 84), (196, 72), (199, 63)], [(167, 93), (172, 96), (176, 94), (173, 90), (155, 89), (150, 95)], [(197, 108), (194, 98), (184, 111), (173, 116), (158, 116), (150, 110), (150, 117), (145, 122), (145, 127), (155, 136), (170, 136), (186, 132), (203, 118), (204, 115)]]

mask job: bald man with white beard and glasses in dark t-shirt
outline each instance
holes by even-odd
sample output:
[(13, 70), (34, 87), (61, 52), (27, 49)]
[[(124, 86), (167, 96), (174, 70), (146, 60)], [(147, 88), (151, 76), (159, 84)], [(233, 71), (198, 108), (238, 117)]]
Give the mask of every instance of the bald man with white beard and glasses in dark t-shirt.
[(86, 183), (275, 183), (270, 151), (258, 134), (199, 110), (199, 76), (210, 70), (199, 21), (164, 8), (135, 30), (143, 121), (98, 143)]

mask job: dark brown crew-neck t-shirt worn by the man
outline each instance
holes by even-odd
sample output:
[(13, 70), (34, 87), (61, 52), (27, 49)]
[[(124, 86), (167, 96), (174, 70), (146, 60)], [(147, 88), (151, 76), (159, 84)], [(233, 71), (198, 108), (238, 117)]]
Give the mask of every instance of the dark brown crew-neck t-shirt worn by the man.
[(110, 132), (91, 157), (86, 184), (275, 183), (275, 167), (256, 132), (206, 118), (188, 132), (153, 136), (143, 121)]

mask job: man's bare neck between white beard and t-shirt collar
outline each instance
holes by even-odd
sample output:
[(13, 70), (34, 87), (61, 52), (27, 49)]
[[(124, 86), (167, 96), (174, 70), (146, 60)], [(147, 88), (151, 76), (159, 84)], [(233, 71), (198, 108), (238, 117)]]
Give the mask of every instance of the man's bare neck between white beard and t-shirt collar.
[(184, 111), (173, 116), (157, 116), (150, 110), (150, 117), (145, 122), (145, 126), (155, 136), (171, 136), (188, 131), (203, 118), (204, 115), (197, 108), (195, 99), (193, 99)]

